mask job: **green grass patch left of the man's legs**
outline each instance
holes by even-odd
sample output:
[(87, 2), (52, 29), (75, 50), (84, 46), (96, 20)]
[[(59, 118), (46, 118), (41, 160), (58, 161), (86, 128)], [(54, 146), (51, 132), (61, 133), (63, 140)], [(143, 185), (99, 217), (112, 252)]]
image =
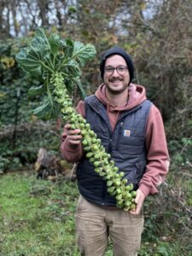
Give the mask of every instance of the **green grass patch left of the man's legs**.
[(79, 255), (74, 235), (76, 183), (13, 174), (0, 181), (0, 255)]

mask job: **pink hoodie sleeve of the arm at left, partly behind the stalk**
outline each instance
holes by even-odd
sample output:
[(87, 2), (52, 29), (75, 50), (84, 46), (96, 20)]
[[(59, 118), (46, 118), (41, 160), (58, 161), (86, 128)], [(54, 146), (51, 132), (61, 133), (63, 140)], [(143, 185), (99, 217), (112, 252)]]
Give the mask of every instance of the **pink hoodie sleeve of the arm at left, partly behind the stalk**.
[[(76, 111), (80, 113), (83, 117), (85, 116), (84, 113), (84, 102), (79, 102)], [(77, 162), (81, 159), (83, 154), (82, 145), (79, 144), (76, 147), (70, 147), (70, 143), (67, 141), (67, 131), (64, 128), (61, 138), (61, 156), (67, 160), (68, 162)]]

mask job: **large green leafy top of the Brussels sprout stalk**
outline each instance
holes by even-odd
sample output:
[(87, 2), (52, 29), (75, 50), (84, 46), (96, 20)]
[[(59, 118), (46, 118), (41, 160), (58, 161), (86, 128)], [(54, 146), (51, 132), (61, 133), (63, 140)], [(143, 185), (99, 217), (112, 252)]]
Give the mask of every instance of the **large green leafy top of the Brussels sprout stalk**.
[(78, 88), (79, 95), (84, 99), (85, 93), (80, 82), (81, 68), (95, 55), (96, 49), (92, 44), (83, 44), (70, 38), (62, 40), (56, 33), (48, 36), (43, 28), (36, 30), (30, 44), (16, 55), (16, 61), (40, 83), (28, 91), (29, 96), (44, 95), (43, 105), (35, 109), (34, 113), (44, 108), (48, 114), (37, 114), (38, 118), (51, 119), (59, 114), (58, 106), (52, 98), (53, 88), (49, 83), (54, 73), (62, 74), (69, 95)]

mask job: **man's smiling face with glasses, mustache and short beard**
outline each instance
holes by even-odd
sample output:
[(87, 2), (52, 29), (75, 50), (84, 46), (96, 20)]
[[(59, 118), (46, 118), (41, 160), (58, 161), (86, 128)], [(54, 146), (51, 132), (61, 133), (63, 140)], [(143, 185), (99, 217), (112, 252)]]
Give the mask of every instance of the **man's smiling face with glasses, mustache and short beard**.
[[(119, 67), (113, 70), (113, 67)], [(112, 55), (105, 61), (104, 83), (110, 93), (122, 93), (130, 83), (130, 73), (126, 61), (121, 55)]]

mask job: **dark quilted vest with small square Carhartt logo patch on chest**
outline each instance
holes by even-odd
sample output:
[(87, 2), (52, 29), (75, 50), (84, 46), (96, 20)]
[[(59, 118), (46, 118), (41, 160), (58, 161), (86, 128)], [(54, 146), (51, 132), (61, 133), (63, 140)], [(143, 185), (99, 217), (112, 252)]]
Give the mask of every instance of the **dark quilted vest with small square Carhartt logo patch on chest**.
[[(111, 154), (119, 172), (125, 172), (128, 183), (133, 183), (134, 189), (137, 189), (147, 164), (145, 130), (152, 103), (145, 100), (137, 107), (121, 112), (112, 131), (102, 102), (96, 96), (88, 96), (84, 102), (85, 118), (91, 130), (102, 140), (102, 145)], [(99, 177), (93, 164), (85, 157), (79, 163), (77, 177), (79, 192), (85, 199), (102, 206), (116, 205), (113, 196), (108, 194), (106, 181)]]

